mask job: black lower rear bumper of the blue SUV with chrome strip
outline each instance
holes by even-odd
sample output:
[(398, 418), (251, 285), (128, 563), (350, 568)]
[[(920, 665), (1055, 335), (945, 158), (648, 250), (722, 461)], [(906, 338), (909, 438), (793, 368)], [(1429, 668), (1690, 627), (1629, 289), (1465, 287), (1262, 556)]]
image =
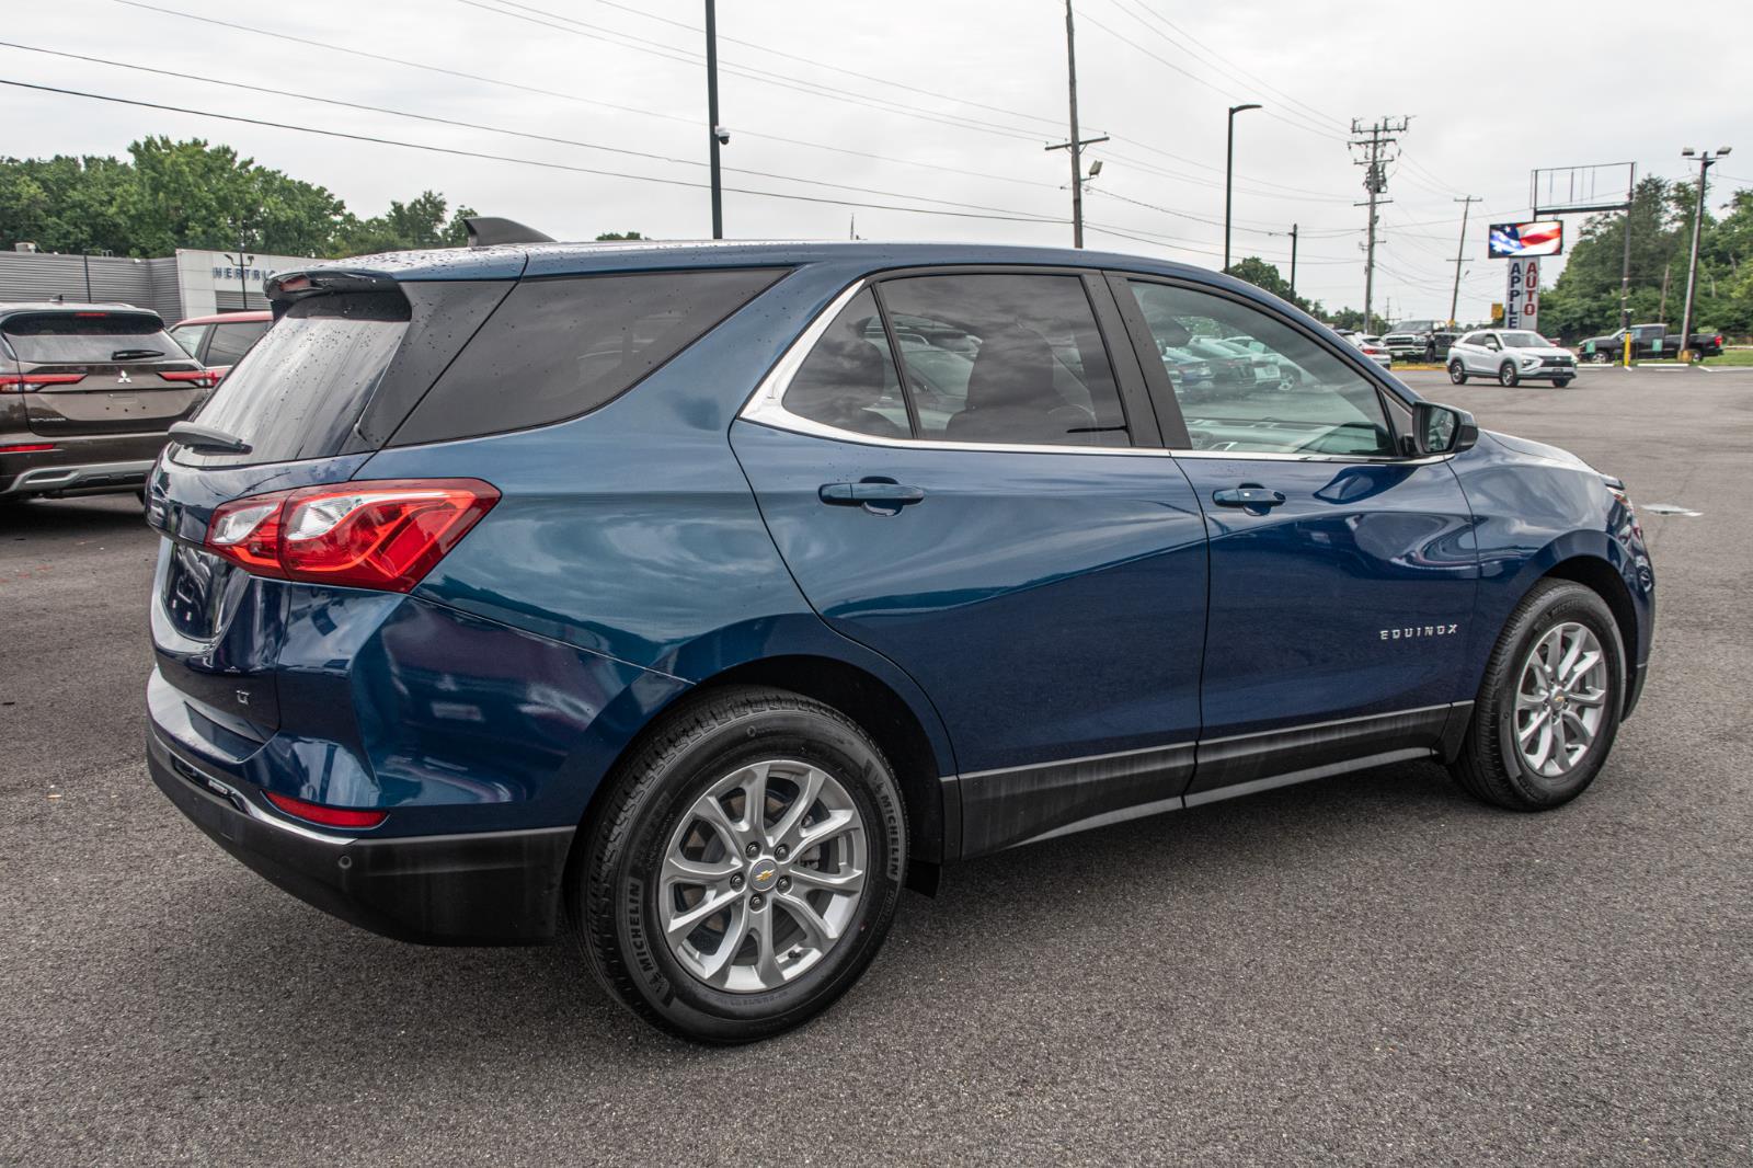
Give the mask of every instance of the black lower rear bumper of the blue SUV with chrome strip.
[(379, 838), (307, 828), (147, 730), (147, 768), (177, 810), (233, 858), (309, 905), (398, 940), (552, 940), (573, 828)]

